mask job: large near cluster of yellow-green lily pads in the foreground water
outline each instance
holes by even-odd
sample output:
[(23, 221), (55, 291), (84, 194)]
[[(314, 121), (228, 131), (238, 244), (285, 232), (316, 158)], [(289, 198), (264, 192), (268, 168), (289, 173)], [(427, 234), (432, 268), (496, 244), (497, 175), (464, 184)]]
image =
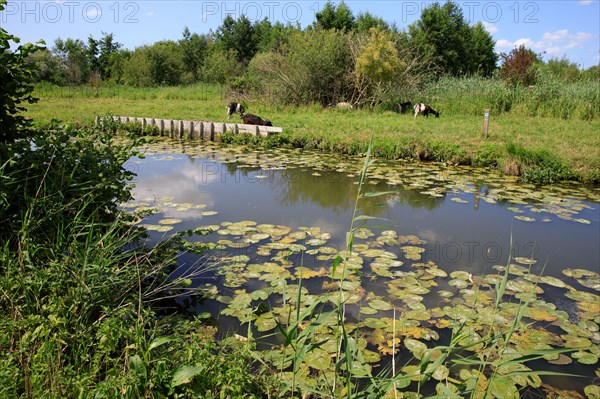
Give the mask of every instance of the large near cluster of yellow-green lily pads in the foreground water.
[[(339, 326), (334, 315), (298, 319), (298, 314), (311, 314), (316, 304), (320, 314), (343, 304), (345, 328), (357, 337), (355, 350), (364, 360), (364, 369), (356, 370), (359, 375), (373, 372), (392, 356), (410, 354), (416, 360), (432, 354), (440, 356), (439, 350), (432, 352), (431, 348), (441, 344), (440, 333), (444, 330), (469, 331), (459, 344), (465, 352), (476, 353), (490, 364), (499, 355), (486, 337), (506, 334), (513, 325), (515, 332), (506, 342), (505, 360), (522, 353), (547, 351), (543, 359), (549, 364), (594, 365), (600, 356), (600, 275), (594, 271), (566, 269), (565, 280), (537, 276), (529, 270), (537, 261), (521, 257), (508, 266), (496, 265), (491, 274), (448, 274), (424, 258), (425, 240), (393, 230), (361, 228), (356, 231), (352, 252), (346, 253), (319, 228), (293, 231), (252, 221), (199, 228), (213, 230), (211, 236), (222, 246), (218, 274), (223, 278), (222, 285), (231, 289), (218, 297), (225, 306), (222, 315), (249, 323), (259, 340), (261, 334), (272, 337), (278, 326), (289, 328), (299, 323), (303, 329), (314, 328), (311, 342), (303, 344), (321, 344), (318, 351), (303, 359), (299, 375), (306, 379), (326, 378), (340, 356), (335, 344)], [(243, 254), (240, 248), (244, 248)], [(224, 256), (228, 252), (231, 255)], [(499, 300), (496, 287), (503, 284), (505, 275), (508, 278)], [(314, 279), (320, 283), (307, 283)], [(385, 289), (376, 294), (365, 288), (373, 283)], [(547, 289), (560, 290), (558, 304), (545, 295)], [(566, 351), (558, 350), (561, 348)], [(275, 345), (265, 356), (282, 361), (286, 350), (289, 348)], [(287, 359), (284, 364), (289, 364), (292, 357), (283, 356)], [(510, 367), (496, 369), (506, 375), (504, 383), (510, 389), (541, 386), (538, 376), (521, 377), (530, 371), (528, 366), (519, 363), (515, 369)], [(424, 378), (414, 364), (400, 372), (405, 374), (407, 384)], [(439, 365), (432, 378), (446, 381), (451, 373), (451, 368)], [(460, 372), (453, 378), (467, 383), (474, 377)], [(484, 379), (480, 384), (489, 382), (483, 375), (478, 378)]]

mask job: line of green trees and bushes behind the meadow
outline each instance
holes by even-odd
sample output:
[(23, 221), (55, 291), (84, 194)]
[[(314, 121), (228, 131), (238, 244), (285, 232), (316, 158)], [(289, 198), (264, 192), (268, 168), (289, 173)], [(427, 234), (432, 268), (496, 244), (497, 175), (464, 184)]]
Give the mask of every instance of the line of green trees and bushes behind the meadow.
[(452, 1), (428, 6), (404, 30), (369, 12), (354, 16), (342, 1), (328, 2), (305, 29), (228, 15), (214, 32), (197, 34), (185, 27), (177, 41), (134, 50), (112, 33), (87, 42), (57, 39), (30, 62), (39, 81), (58, 85), (206, 82), (284, 103), (323, 105), (398, 99), (439, 76), (499, 76), (511, 84), (532, 84), (537, 73), (532, 65), (543, 64), (546, 72), (570, 80), (599, 75), (597, 67), (580, 71), (565, 59), (543, 63), (524, 47), (501, 54), (498, 68), (494, 45), (484, 26), (469, 24)]

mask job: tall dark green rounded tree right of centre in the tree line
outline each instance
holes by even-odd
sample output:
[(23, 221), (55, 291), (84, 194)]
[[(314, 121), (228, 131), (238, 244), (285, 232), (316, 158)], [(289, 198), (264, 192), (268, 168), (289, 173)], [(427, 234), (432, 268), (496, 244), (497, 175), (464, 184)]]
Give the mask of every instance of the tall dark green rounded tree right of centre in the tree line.
[(494, 41), (478, 23), (469, 26), (458, 4), (433, 3), (408, 27), (410, 40), (445, 74), (491, 74), (497, 57)]

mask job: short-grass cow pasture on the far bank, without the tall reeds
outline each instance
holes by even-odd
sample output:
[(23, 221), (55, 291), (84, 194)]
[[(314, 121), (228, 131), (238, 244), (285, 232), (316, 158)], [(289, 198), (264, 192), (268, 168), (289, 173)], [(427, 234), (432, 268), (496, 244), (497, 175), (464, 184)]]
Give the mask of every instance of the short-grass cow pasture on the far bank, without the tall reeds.
[[(106, 114), (226, 121), (225, 105), (231, 100), (220, 87), (207, 85), (99, 89), (40, 86), (34, 95), (40, 101), (29, 106), (27, 115), (37, 122), (56, 118), (84, 125), (91, 124), (96, 115)], [(285, 107), (267, 101), (246, 104), (248, 113), (283, 127), (283, 142), (294, 146), (356, 154), (366, 150), (373, 135), (377, 156), (477, 164), (521, 175), (528, 167), (542, 163), (552, 169), (550, 181), (600, 181), (600, 120), (528, 117), (517, 112), (492, 114), (489, 137), (485, 139), (482, 116), (448, 108), (439, 108), (439, 119), (415, 120), (412, 115), (390, 111), (334, 110), (318, 105)], [(232, 121), (236, 120), (239, 117), (234, 115)], [(555, 171), (556, 165), (561, 170)]]

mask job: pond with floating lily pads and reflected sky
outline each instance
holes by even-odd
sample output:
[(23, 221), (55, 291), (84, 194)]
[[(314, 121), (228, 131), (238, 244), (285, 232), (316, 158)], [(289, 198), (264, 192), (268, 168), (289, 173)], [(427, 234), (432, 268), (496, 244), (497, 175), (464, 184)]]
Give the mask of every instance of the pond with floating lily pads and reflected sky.
[[(278, 322), (340, 292), (373, 372), (397, 354), (408, 375), (423, 343), (439, 344), (456, 323), (481, 337), (528, 302), (511, 350), (577, 348), (529, 365), (567, 372), (568, 364), (585, 376), (552, 377), (554, 386), (582, 391), (597, 376), (597, 187), (534, 187), (485, 169), (375, 159), (357, 201), (361, 157), (168, 139), (142, 150), (145, 158), (127, 165), (137, 178), (124, 207), (154, 210), (141, 221), (154, 242), (207, 233), (191, 235), (190, 248), (211, 249), (182, 254), (174, 277), (208, 287), (212, 299), (190, 294), (180, 304), (208, 312), (224, 334), (252, 331), (267, 352), (282, 340)], [(351, 226), (353, 252), (337, 264)], [(306, 374), (333, 364), (335, 348), (318, 349), (324, 364), (306, 360)]]

